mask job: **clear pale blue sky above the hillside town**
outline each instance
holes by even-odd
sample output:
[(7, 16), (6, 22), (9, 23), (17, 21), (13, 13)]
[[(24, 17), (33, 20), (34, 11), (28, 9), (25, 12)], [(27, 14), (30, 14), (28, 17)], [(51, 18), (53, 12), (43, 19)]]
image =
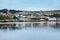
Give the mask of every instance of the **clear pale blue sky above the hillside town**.
[(0, 0), (0, 9), (60, 10), (60, 0)]

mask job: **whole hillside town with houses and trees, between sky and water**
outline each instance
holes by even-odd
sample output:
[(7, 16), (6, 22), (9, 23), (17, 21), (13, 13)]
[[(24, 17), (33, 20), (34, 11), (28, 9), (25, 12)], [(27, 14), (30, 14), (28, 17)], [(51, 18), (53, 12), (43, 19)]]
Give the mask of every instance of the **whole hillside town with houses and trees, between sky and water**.
[(60, 10), (50, 11), (23, 11), (23, 10), (0, 10), (0, 22), (36, 22), (36, 21), (60, 21)]

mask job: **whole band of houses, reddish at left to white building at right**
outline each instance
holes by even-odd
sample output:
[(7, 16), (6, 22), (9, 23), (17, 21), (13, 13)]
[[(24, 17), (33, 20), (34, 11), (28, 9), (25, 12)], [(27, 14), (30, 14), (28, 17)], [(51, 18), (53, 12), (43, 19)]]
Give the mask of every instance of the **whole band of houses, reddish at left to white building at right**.
[(0, 13), (0, 15), (7, 16), (9, 18), (13, 18), (16, 16), (19, 20), (28, 20), (30, 18), (48, 18), (48, 20), (56, 20), (55, 17), (51, 18), (48, 16), (45, 16), (45, 13), (42, 11), (22, 11), (22, 12), (16, 12), (16, 13)]

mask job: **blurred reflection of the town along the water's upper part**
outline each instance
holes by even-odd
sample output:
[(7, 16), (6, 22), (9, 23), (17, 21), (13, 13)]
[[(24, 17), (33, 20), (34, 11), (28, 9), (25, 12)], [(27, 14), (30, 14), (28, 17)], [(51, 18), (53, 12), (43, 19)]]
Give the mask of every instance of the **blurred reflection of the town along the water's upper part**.
[(56, 22), (5, 22), (0, 23), (0, 29), (23, 29), (23, 28), (60, 28), (60, 23)]

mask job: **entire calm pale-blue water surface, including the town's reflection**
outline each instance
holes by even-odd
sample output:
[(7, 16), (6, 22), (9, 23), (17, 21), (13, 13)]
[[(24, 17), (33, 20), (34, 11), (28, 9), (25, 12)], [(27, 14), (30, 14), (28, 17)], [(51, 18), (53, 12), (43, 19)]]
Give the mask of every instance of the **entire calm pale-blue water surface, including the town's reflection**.
[(0, 22), (0, 40), (60, 40), (60, 23)]

